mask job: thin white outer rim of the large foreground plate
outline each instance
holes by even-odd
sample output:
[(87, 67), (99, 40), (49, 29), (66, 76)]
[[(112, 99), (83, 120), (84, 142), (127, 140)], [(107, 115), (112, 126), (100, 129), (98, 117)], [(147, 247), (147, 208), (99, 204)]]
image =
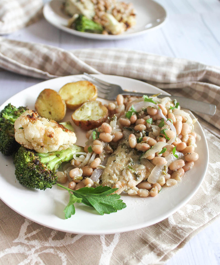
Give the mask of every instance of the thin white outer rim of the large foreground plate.
[[(103, 74), (92, 74), (94, 76), (101, 76)], [(66, 77), (74, 77), (74, 78), (80, 78), (81, 76), (83, 75), (68, 75), (68, 76), (62, 76), (62, 77), (58, 77), (58, 78), (53, 78), (53, 79), (62, 79), (62, 78), (66, 78)], [(106, 76), (106, 75), (104, 75)], [(129, 77), (124, 77), (124, 76), (118, 76), (118, 75), (108, 75), (108, 76), (111, 76), (111, 77), (119, 77), (119, 78), (123, 78), (123, 79), (128, 79), (128, 80), (135, 80), (136, 82), (140, 82), (140, 83), (143, 83), (145, 84), (146, 86), (151, 86), (152, 88), (157, 88), (151, 84), (148, 84), (146, 82), (143, 82), (143, 81), (140, 81), (140, 80), (136, 80), (136, 79), (133, 79), (133, 78), (129, 78)], [(53, 80), (53, 79), (50, 79), (50, 80)], [(2, 108), (4, 108), (4, 106), (6, 106), (6, 104), (8, 104), (8, 102), (15, 96), (19, 95), (20, 93), (24, 93), (26, 90), (29, 90), (30, 88), (32, 88), (33, 86), (37, 86), (38, 84), (41, 84), (41, 83), (44, 83), (44, 82), (48, 82), (50, 80), (45, 80), (45, 81), (41, 81), (35, 85), (32, 85), (30, 87), (27, 87), (25, 88), (24, 90), (22, 91), (19, 91), (18, 93), (16, 93), (15, 95), (13, 95), (12, 97), (10, 97), (7, 101), (5, 101), (1, 106), (0, 106), (0, 110), (2, 110)], [(159, 89), (159, 88), (157, 88)], [(159, 89), (160, 90), (160, 89)], [(161, 90), (162, 91), (162, 90)], [(169, 95), (166, 91), (162, 91), (162, 93), (164, 94), (164, 96), (166, 95)], [(193, 117), (195, 117), (193, 115), (193, 113), (190, 112), (190, 115), (192, 115)], [(169, 210), (166, 214), (162, 215), (162, 217), (157, 217), (157, 218), (154, 218), (152, 219), (152, 221), (147, 221), (147, 225), (144, 223), (144, 222), (141, 222), (140, 224), (130, 224), (124, 228), (113, 228), (113, 229), (108, 229), (108, 231), (106, 231), (105, 229), (102, 229), (102, 230), (99, 230), (99, 231), (91, 231), (91, 232), (88, 232), (85, 230), (83, 231), (83, 229), (76, 229), (76, 230), (69, 230), (69, 229), (60, 229), (60, 228), (55, 228), (54, 226), (50, 226), (50, 225), (45, 225), (43, 222), (40, 222), (40, 221), (36, 221), (34, 218), (30, 218), (28, 215), (26, 214), (23, 214), (23, 213), (20, 213), (18, 210), (16, 210), (16, 208), (14, 207), (11, 207), (4, 199), (2, 199), (1, 195), (0, 195), (0, 199), (9, 207), (11, 208), (12, 210), (14, 210), (16, 213), (18, 213), (19, 215), (37, 223), (37, 224), (40, 224), (42, 226), (45, 226), (45, 227), (48, 227), (48, 228), (51, 228), (51, 229), (55, 229), (55, 230), (58, 230), (58, 231), (62, 231), (62, 232), (66, 232), (66, 233), (76, 233), (76, 234), (80, 234), (80, 235), (107, 235), (107, 234), (114, 234), (114, 233), (122, 233), (122, 232), (128, 232), (128, 231), (133, 231), (133, 230), (136, 230), (136, 229), (141, 229), (141, 228), (145, 228), (145, 227), (148, 227), (150, 225), (153, 225), (153, 224), (157, 224), (163, 220), (165, 220), (166, 218), (168, 218), (169, 216), (171, 216), (173, 213), (175, 213), (176, 211), (178, 211), (181, 207), (183, 207), (185, 204), (187, 204), (190, 199), (195, 195), (195, 193), (197, 192), (197, 190), (200, 188), (202, 182), (204, 181), (205, 177), (206, 177), (206, 172), (207, 172), (207, 169), (208, 169), (208, 161), (209, 161), (209, 151), (208, 151), (208, 144), (207, 144), (207, 140), (206, 140), (206, 137), (205, 137), (205, 133), (201, 127), (201, 124), (198, 122), (198, 126), (200, 127), (201, 131), (202, 131), (202, 134), (203, 134), (203, 139), (205, 141), (205, 146), (206, 146), (206, 151), (207, 151), (207, 158), (206, 158), (206, 167), (205, 167), (205, 170), (204, 170), (204, 173), (203, 173), (203, 176), (202, 178), (200, 179), (200, 181), (198, 181), (198, 183), (195, 185), (195, 188), (193, 190), (193, 192), (191, 192), (186, 198), (184, 198), (184, 200), (182, 200), (182, 202), (180, 202), (177, 206), (173, 207), (172, 210)]]

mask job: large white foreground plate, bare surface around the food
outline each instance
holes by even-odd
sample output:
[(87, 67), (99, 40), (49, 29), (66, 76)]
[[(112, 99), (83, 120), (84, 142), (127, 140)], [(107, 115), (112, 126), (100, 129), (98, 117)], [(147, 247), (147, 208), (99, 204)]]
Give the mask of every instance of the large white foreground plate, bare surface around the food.
[[(80, 80), (82, 75), (72, 75), (47, 80), (31, 86), (7, 100), (1, 107), (9, 102), (15, 106), (27, 106), (34, 108), (36, 97), (45, 88), (56, 91), (66, 83)], [(97, 76), (97, 75), (95, 75)], [(119, 84), (124, 89), (140, 92), (158, 93), (160, 89), (147, 83), (113, 75), (98, 75), (107, 82)], [(71, 120), (71, 111), (66, 115), (66, 120)], [(75, 126), (78, 138), (77, 144), (85, 146), (85, 133)], [(201, 185), (208, 165), (208, 147), (204, 132), (199, 123), (195, 124), (195, 131), (201, 135), (196, 151), (199, 160), (188, 171), (181, 183), (173, 187), (164, 187), (157, 197), (140, 198), (136, 196), (121, 197), (127, 207), (117, 213), (96, 213), (91, 207), (76, 204), (76, 213), (65, 220), (63, 209), (69, 201), (67, 191), (54, 185), (52, 189), (34, 190), (19, 184), (14, 176), (14, 164), (12, 158), (0, 154), (0, 198), (10, 208), (26, 218), (44, 226), (77, 234), (113, 234), (146, 227), (162, 221), (177, 211), (195, 194)]]

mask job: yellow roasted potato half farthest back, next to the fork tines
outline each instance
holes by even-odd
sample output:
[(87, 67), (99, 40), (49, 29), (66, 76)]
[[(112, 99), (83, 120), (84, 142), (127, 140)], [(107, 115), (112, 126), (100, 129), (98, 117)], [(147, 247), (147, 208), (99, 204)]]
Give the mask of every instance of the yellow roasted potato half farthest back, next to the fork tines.
[(66, 102), (67, 108), (77, 109), (86, 101), (96, 100), (98, 92), (91, 82), (78, 81), (61, 87), (59, 94)]

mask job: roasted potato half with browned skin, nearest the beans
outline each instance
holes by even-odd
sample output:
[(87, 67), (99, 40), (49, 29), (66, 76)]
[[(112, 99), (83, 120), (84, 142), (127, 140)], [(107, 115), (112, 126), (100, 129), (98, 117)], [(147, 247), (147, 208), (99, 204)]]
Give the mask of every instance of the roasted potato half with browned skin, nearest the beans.
[(83, 130), (100, 126), (108, 117), (108, 109), (100, 101), (88, 101), (72, 114), (72, 119)]

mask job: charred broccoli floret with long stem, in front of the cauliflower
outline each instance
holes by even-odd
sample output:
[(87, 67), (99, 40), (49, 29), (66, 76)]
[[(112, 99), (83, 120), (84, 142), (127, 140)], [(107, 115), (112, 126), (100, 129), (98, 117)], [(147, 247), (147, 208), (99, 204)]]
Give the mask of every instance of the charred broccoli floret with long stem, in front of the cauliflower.
[(36, 153), (21, 146), (14, 155), (15, 176), (19, 183), (29, 188), (45, 190), (56, 184), (56, 169), (62, 162), (73, 159), (75, 152), (82, 152), (83, 147), (73, 145), (60, 152)]

